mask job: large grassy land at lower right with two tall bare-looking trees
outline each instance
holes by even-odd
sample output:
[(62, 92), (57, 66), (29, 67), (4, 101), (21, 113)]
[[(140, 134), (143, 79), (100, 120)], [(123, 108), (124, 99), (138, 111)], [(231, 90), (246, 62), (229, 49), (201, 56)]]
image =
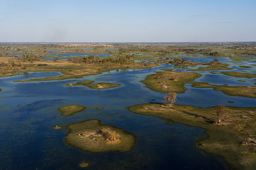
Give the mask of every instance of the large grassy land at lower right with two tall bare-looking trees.
[(223, 156), (233, 169), (256, 168), (256, 107), (225, 107), (227, 113), (221, 124), (214, 123), (218, 118), (216, 107), (197, 108), (178, 104), (168, 107), (165, 103), (146, 103), (128, 109), (137, 114), (166, 119), (168, 124), (179, 122), (204, 128), (208, 137), (196, 141), (195, 147)]

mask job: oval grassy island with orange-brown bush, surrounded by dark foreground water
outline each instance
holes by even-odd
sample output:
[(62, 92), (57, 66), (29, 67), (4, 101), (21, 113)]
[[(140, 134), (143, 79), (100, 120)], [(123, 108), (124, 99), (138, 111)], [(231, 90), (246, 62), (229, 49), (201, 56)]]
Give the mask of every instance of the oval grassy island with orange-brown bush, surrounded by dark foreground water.
[[(129, 152), (137, 137), (132, 133), (112, 126), (102, 125), (100, 120), (86, 120), (68, 125), (70, 132), (64, 138), (67, 145), (91, 153)], [(108, 136), (106, 134), (112, 136)], [(118, 136), (118, 138), (116, 138)]]

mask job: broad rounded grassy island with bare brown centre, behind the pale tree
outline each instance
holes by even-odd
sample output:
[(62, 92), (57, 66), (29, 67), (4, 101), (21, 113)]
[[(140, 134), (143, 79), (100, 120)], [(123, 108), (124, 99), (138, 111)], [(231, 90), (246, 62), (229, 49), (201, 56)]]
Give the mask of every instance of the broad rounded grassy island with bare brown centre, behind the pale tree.
[(144, 87), (162, 93), (184, 93), (188, 89), (184, 88), (183, 85), (201, 76), (198, 73), (176, 72), (168, 69), (162, 70), (165, 71), (148, 75), (145, 80), (142, 80), (141, 82), (146, 84)]

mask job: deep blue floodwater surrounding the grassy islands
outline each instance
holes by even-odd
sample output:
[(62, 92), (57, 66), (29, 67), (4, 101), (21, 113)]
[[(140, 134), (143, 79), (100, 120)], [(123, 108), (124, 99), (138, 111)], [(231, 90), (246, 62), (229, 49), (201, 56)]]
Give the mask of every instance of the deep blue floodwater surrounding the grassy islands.
[[(209, 62), (208, 58), (189, 56)], [(248, 61), (237, 62), (219, 58), (233, 70), (255, 72), (255, 66), (240, 68)], [(252, 61), (254, 60), (254, 61)], [(210, 60), (211, 61), (211, 60)], [(255, 59), (249, 60), (250, 64)], [(31, 78), (58, 76), (59, 72), (39, 72), (0, 78), (0, 169), (80, 169), (78, 164), (90, 161), (88, 169), (229, 169), (218, 155), (202, 152), (194, 147), (195, 141), (206, 137), (204, 129), (183, 124), (167, 124), (167, 120), (135, 114), (126, 109), (140, 103), (162, 102), (166, 94), (145, 88), (141, 80), (159, 69), (174, 69), (173, 65), (139, 70), (113, 70), (111, 73), (84, 76), (83, 79), (63, 81), (13, 82)], [(186, 71), (191, 68), (174, 69)], [(210, 71), (210, 72), (222, 72)], [(225, 71), (225, 70), (224, 70)], [(195, 81), (222, 85), (253, 86), (256, 79), (236, 78), (223, 74), (198, 72)], [(227, 79), (230, 78), (230, 79)], [(90, 89), (85, 86), (68, 87), (66, 84), (93, 80), (95, 83), (121, 84), (110, 89)], [(239, 82), (244, 80), (246, 82)], [(256, 98), (228, 96), (211, 88), (193, 88), (177, 94), (177, 104), (197, 107), (226, 106), (256, 107)], [(228, 103), (227, 101), (234, 101)], [(87, 109), (71, 116), (62, 116), (61, 106), (78, 104)], [(97, 110), (96, 107), (104, 108)], [(137, 143), (126, 153), (87, 153), (64, 142), (68, 129), (52, 129), (88, 119), (99, 119), (102, 124), (123, 128), (137, 136)]]

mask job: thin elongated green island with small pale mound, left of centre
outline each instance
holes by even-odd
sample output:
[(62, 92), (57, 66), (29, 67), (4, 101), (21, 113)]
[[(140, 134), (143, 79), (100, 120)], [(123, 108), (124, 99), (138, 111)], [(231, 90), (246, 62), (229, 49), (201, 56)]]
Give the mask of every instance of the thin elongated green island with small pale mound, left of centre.
[(94, 89), (106, 89), (106, 88), (113, 88), (121, 86), (120, 84), (112, 84), (108, 82), (98, 83), (98, 84), (92, 84), (94, 81), (81, 81), (77, 82), (76, 84), (67, 84), (66, 86), (76, 86), (76, 85), (83, 85)]

